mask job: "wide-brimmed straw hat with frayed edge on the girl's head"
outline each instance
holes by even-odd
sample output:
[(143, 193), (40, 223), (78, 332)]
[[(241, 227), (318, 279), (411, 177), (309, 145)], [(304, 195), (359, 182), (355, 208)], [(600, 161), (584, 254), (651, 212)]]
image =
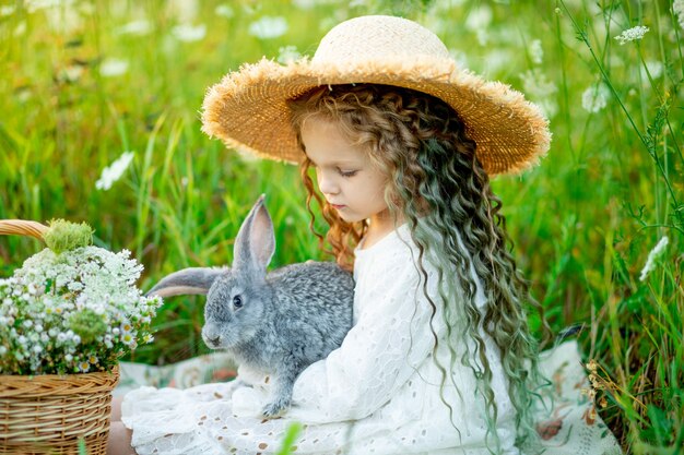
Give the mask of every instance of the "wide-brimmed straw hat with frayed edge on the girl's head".
[(406, 87), (445, 100), (460, 115), (490, 175), (519, 172), (549, 149), (549, 121), (522, 94), (458, 68), (423, 26), (385, 15), (337, 25), (310, 60), (282, 65), (264, 58), (226, 74), (207, 93), (202, 130), (228, 147), (299, 163), (304, 154), (285, 100), (320, 85), (350, 83)]

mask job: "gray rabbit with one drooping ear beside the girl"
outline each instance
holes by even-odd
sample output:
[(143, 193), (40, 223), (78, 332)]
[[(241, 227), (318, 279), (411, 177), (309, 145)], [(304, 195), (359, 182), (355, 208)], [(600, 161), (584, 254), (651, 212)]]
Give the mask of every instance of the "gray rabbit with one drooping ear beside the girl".
[(340, 347), (352, 327), (354, 280), (332, 262), (291, 264), (267, 273), (275, 249), (273, 224), (259, 197), (235, 239), (231, 268), (192, 267), (163, 278), (148, 294), (207, 294), (202, 338), (239, 364), (270, 374), (262, 409), (278, 417), (310, 363)]

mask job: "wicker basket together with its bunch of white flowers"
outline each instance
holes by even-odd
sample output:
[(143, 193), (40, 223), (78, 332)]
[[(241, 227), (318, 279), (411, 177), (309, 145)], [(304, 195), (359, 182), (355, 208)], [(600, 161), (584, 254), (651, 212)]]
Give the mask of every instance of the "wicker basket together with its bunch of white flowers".
[(117, 361), (150, 343), (162, 301), (135, 286), (129, 251), (93, 247), (63, 220), (0, 220), (48, 248), (0, 278), (0, 454), (105, 454)]

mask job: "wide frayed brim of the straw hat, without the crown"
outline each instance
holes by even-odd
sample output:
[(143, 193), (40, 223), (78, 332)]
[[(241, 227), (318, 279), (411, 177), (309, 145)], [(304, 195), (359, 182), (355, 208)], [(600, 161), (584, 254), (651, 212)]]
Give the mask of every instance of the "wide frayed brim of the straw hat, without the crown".
[(518, 173), (549, 151), (549, 121), (538, 106), (506, 84), (484, 81), (458, 70), (453, 60), (432, 57), (346, 61), (343, 65), (308, 59), (282, 65), (262, 59), (209, 88), (202, 131), (228, 147), (297, 164), (304, 154), (286, 100), (317, 86), (350, 83), (394, 85), (443, 99), (463, 120), (488, 175)]

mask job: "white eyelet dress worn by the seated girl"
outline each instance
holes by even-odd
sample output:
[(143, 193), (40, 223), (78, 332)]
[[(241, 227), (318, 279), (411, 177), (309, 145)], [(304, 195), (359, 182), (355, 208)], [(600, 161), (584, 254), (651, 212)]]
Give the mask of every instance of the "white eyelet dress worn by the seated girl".
[[(355, 253), (354, 326), (339, 349), (300, 374), (284, 418), (259, 417), (268, 378), (244, 369), (238, 378), (252, 387), (145, 386), (129, 392), (122, 404), (122, 421), (133, 430), (137, 452), (275, 453), (288, 426), (298, 421), (303, 431), (295, 454), (488, 454), (484, 406), (470, 368), (449, 362), (446, 343), (433, 352), (432, 310), (422, 291), (414, 262), (417, 249), (408, 225)], [(426, 267), (428, 292), (436, 296), (436, 273)], [(472, 270), (471, 275), (482, 306), (480, 282)], [(441, 336), (440, 313), (433, 326)], [(446, 381), (433, 356), (443, 366), (451, 363)], [(518, 454), (515, 414), (491, 342), (487, 357), (498, 407), (499, 453)]]

